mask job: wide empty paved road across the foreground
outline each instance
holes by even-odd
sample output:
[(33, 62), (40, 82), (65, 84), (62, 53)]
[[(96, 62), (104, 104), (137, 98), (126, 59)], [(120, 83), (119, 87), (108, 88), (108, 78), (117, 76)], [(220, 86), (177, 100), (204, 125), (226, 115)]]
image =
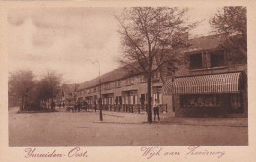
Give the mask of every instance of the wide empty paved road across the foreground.
[[(145, 114), (9, 111), (10, 146), (248, 145), (248, 127), (145, 123)], [(164, 121), (165, 116), (160, 118)]]

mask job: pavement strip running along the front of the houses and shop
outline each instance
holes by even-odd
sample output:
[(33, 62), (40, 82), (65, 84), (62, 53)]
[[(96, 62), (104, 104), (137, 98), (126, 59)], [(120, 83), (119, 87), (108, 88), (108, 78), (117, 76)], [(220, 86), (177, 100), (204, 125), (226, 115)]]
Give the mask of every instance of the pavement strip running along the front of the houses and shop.
[[(99, 113), (99, 112), (97, 112)], [(147, 123), (146, 114), (124, 113), (103, 111), (104, 121), (102, 123), (116, 124), (142, 124)], [(112, 118), (109, 118), (112, 117)], [(98, 121), (99, 122), (99, 121)], [(160, 114), (160, 122), (153, 124), (178, 124), (195, 126), (230, 126), (230, 127), (248, 127), (248, 118), (177, 118), (169, 114)]]

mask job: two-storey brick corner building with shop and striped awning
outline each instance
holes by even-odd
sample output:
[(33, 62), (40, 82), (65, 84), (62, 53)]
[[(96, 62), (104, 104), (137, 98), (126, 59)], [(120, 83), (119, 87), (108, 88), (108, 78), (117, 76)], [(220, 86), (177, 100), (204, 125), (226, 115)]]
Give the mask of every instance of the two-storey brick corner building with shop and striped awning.
[(247, 64), (232, 64), (222, 35), (193, 39), (168, 88), (177, 117), (247, 117)]

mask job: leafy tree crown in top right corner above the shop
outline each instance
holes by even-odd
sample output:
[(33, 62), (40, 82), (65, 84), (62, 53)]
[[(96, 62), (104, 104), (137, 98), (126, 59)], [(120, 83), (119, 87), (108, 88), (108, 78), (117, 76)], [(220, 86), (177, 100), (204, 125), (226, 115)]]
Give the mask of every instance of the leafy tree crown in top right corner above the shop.
[(247, 62), (247, 16), (246, 7), (224, 7), (210, 19), (216, 33), (225, 34), (223, 47), (232, 63)]

